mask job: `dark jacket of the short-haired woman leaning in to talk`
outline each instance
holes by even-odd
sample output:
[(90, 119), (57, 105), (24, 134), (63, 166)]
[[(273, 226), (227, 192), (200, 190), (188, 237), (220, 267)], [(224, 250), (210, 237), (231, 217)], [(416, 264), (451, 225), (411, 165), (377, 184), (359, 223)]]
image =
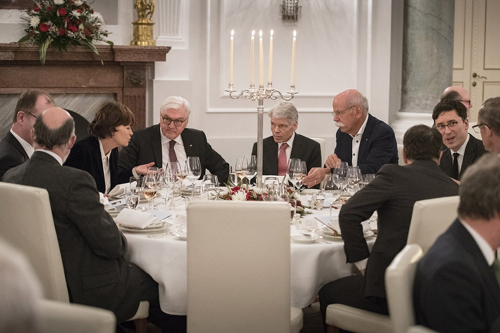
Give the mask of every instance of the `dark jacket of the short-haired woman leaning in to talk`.
[[(132, 177), (132, 168), (118, 173), (117, 163), (118, 148), (115, 148), (111, 150), (109, 156), (111, 189), (117, 184), (128, 183), (130, 177)], [(94, 178), (97, 190), (105, 193), (106, 182), (104, 180), (103, 159), (101, 156), (101, 148), (99, 147), (99, 140), (96, 137), (88, 136), (76, 142), (64, 165), (87, 171)]]

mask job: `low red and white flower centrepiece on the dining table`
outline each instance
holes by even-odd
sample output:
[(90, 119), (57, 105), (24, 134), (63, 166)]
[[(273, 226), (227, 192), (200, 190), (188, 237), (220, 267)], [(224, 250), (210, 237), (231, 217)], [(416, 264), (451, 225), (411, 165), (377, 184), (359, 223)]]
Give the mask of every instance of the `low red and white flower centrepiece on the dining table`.
[[(294, 190), (291, 186), (286, 186), (286, 191), (288, 198), (295, 199), (297, 202), (296, 212), (301, 214), (301, 216), (312, 214), (312, 212), (308, 212), (304, 209), (304, 206), (301, 202), (301, 196), (299, 194), (299, 190)], [(268, 194), (267, 189), (259, 189), (257, 186), (249, 185), (249, 184), (227, 184), (226, 188), (221, 189), (219, 193), (219, 198), (223, 200), (239, 200), (239, 201), (263, 201), (262, 195)]]

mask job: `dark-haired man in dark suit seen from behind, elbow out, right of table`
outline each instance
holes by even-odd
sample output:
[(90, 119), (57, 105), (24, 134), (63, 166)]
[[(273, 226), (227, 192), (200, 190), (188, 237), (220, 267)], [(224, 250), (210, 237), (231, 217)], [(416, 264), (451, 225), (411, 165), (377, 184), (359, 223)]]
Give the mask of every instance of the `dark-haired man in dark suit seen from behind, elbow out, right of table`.
[[(437, 165), (442, 139), (425, 125), (408, 129), (403, 138), (407, 165), (386, 164), (375, 179), (354, 194), (338, 216), (347, 262), (361, 275), (327, 283), (319, 291), (323, 316), (329, 304), (340, 303), (387, 314), (385, 270), (406, 245), (415, 201), (458, 194), (458, 184)], [(361, 222), (378, 215), (378, 235), (371, 250)]]

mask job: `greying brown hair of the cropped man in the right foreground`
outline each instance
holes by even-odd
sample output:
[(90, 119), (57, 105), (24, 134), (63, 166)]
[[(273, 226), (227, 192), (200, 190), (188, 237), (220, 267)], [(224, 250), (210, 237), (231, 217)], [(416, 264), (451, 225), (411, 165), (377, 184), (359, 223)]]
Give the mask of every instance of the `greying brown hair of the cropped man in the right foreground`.
[(458, 215), (492, 219), (500, 214), (500, 157), (485, 154), (465, 171)]

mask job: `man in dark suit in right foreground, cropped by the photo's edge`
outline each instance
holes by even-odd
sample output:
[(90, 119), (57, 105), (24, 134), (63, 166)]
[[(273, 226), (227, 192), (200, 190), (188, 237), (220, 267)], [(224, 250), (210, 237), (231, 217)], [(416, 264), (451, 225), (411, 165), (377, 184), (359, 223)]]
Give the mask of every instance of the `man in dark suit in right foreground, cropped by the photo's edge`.
[(487, 154), (462, 178), (458, 218), (418, 263), (418, 324), (439, 332), (498, 332), (499, 192), (500, 158)]

